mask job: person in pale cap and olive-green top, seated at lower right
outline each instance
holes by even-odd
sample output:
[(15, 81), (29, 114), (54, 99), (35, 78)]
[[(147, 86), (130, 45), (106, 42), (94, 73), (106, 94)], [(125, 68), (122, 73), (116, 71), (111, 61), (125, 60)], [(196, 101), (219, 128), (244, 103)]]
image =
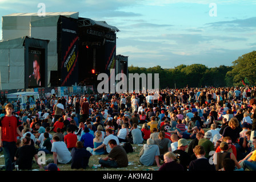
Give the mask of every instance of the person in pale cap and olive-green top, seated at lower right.
[(203, 146), (203, 148), (205, 148), (205, 157), (209, 158), (210, 157), (210, 152), (214, 151), (214, 144), (213, 142), (211, 142), (211, 138), (213, 136), (211, 135), (210, 131), (207, 131), (205, 133), (205, 136), (201, 139), (198, 140), (198, 145), (199, 146)]

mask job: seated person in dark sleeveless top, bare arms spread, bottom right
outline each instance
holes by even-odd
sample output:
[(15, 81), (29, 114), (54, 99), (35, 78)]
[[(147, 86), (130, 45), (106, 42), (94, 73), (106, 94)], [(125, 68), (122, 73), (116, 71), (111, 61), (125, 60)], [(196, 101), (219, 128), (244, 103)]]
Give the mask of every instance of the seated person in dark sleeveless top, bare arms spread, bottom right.
[(230, 159), (234, 160), (235, 166), (237, 167), (237, 169), (241, 168), (241, 165), (237, 162), (235, 155), (233, 153), (227, 151), (229, 149), (229, 145), (226, 142), (221, 142), (221, 144), (219, 145), (219, 148), (221, 148), (221, 151), (217, 152), (217, 153), (215, 152), (215, 154), (213, 156), (213, 162), (215, 164), (215, 168), (217, 171), (222, 170), (222, 168), (223, 168), (222, 162), (226, 158), (230, 158)]

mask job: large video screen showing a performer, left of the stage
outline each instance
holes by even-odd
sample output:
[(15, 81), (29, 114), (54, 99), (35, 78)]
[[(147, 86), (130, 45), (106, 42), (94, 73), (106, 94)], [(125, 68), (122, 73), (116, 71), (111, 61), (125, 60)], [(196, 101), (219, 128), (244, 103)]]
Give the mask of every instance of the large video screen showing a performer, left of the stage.
[(45, 85), (45, 49), (29, 48), (29, 88)]

